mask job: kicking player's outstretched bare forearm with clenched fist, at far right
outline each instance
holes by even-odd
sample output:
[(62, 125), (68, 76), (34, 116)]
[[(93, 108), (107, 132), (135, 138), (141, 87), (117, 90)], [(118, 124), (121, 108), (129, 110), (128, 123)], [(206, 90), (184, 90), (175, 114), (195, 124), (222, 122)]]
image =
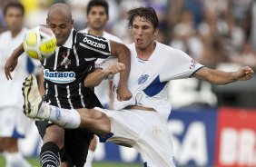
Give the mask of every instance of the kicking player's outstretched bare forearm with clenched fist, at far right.
[(227, 84), (250, 80), (253, 74), (254, 72), (249, 66), (241, 67), (236, 72), (224, 72), (222, 70), (213, 70), (204, 67), (196, 72), (194, 76), (212, 84)]

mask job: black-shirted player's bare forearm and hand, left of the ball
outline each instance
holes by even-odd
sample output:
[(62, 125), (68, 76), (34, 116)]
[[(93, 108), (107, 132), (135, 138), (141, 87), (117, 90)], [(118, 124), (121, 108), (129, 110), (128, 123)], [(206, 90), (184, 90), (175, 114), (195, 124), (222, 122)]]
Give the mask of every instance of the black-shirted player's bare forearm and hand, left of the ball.
[(15, 70), (16, 65), (18, 64), (18, 58), (21, 54), (24, 53), (23, 44), (20, 44), (14, 52), (11, 54), (11, 56), (8, 58), (8, 60), (5, 63), (5, 76), (7, 80), (13, 79), (11, 72)]

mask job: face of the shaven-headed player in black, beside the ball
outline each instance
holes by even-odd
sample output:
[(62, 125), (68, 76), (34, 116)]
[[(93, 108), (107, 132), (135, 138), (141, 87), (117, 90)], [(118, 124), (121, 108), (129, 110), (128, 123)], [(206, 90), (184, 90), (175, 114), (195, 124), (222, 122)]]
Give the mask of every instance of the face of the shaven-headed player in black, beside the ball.
[(69, 37), (73, 28), (73, 19), (64, 15), (51, 15), (46, 19), (47, 26), (56, 36), (57, 45), (62, 46)]

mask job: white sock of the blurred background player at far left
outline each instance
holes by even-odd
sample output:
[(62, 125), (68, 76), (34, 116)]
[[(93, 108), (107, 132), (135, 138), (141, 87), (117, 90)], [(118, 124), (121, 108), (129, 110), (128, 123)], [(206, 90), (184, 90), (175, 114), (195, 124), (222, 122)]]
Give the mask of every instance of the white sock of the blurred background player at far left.
[(31, 167), (21, 152), (5, 152), (6, 167)]

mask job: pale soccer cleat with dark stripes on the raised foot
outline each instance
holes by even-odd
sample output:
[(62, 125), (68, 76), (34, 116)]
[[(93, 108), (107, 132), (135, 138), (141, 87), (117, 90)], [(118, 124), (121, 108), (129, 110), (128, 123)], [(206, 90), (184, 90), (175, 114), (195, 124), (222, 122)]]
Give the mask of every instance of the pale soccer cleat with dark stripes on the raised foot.
[(38, 91), (37, 81), (33, 74), (25, 78), (23, 83), (24, 113), (29, 118), (37, 118), (43, 99)]

